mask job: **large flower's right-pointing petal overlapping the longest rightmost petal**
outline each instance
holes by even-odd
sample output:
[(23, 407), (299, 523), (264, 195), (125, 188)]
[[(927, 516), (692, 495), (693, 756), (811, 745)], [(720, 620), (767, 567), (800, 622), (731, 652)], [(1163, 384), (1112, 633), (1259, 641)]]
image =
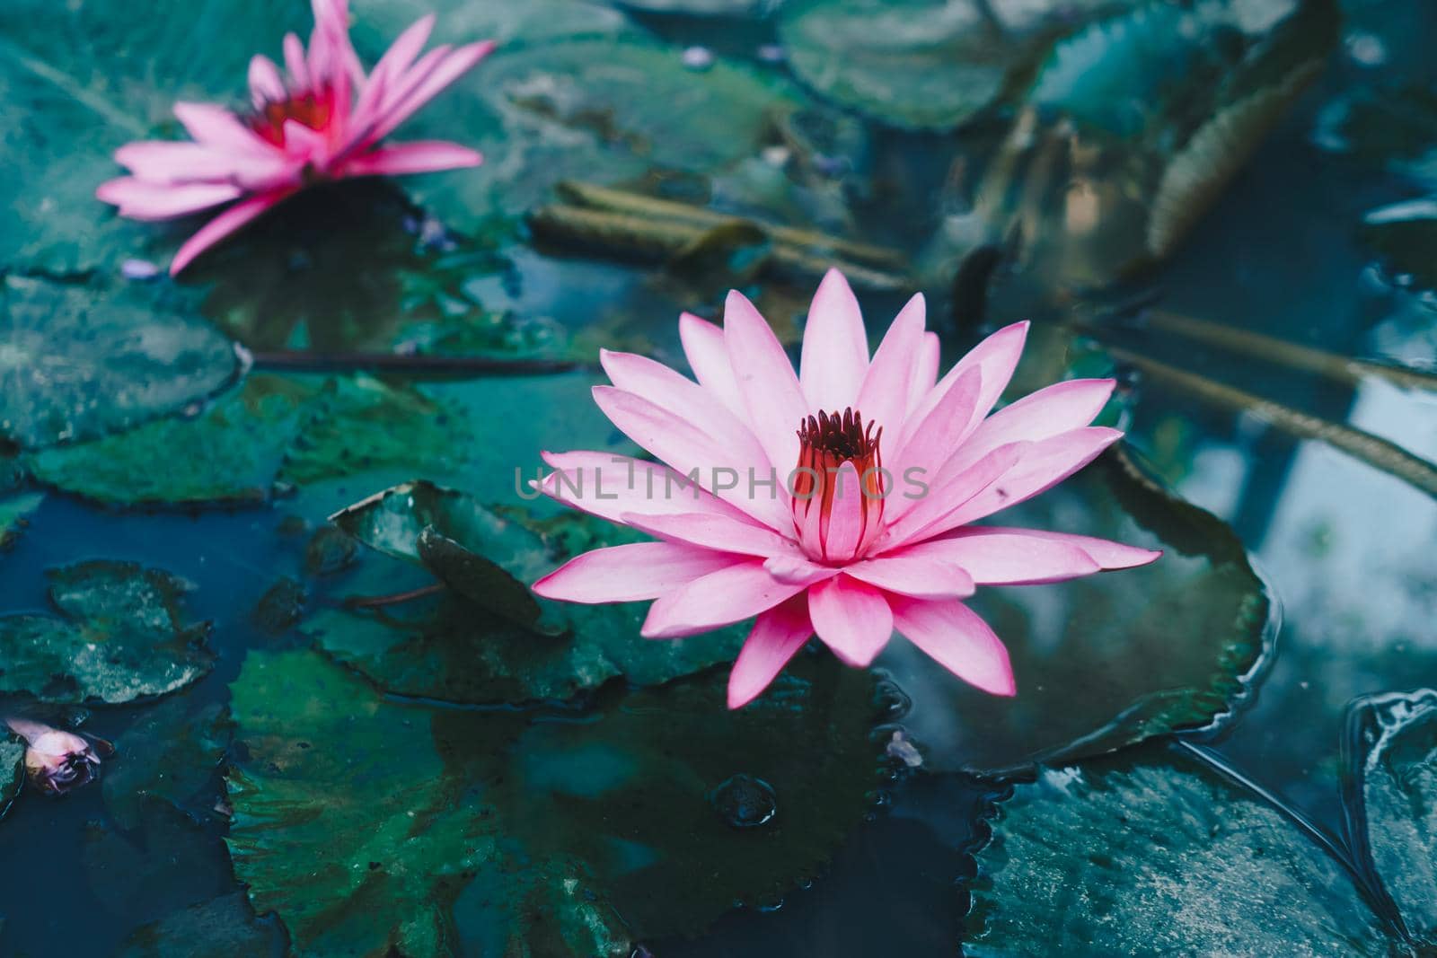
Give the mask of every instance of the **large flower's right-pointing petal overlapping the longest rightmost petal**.
[(1089, 576), (1101, 569), (1086, 552), (1045, 541), (1022, 530), (963, 529), (943, 539), (905, 546), (892, 556), (946, 562), (967, 570), (981, 586), (1032, 586)]

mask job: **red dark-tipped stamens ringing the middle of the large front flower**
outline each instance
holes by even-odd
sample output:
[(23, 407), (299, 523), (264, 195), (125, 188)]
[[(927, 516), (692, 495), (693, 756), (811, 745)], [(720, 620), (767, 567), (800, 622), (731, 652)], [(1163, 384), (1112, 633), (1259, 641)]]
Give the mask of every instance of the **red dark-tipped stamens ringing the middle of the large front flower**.
[[(862, 414), (852, 408), (844, 409), (842, 415), (833, 412), (819, 412), (808, 417), (799, 424), (799, 464), (793, 473), (793, 518), (800, 534), (809, 530), (803, 539), (812, 543), (812, 533), (818, 536), (818, 553), (825, 562), (848, 562), (858, 544), (845, 544), (842, 552), (849, 554), (831, 554), (829, 552), (829, 521), (835, 508), (835, 497), (841, 500), (838, 470), (845, 462), (852, 462), (858, 473), (859, 491), (856, 503), (839, 501), (839, 508), (861, 510), (861, 533), (858, 543), (872, 539), (878, 523), (884, 516), (884, 470), (878, 441), (882, 438), (882, 427), (869, 422), (864, 427)], [(813, 510), (818, 516), (813, 516)], [(816, 526), (812, 524), (818, 520)]]

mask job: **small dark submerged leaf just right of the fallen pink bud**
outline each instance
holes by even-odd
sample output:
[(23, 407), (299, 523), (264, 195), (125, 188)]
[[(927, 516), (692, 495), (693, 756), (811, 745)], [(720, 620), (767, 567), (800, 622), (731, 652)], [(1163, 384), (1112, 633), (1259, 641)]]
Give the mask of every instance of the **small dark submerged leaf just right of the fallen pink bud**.
[(101, 790), (111, 819), (124, 829), (138, 827), (154, 800), (197, 817), (213, 814), (230, 733), (218, 702), (175, 697), (145, 710), (115, 741), (115, 758), (105, 763)]

